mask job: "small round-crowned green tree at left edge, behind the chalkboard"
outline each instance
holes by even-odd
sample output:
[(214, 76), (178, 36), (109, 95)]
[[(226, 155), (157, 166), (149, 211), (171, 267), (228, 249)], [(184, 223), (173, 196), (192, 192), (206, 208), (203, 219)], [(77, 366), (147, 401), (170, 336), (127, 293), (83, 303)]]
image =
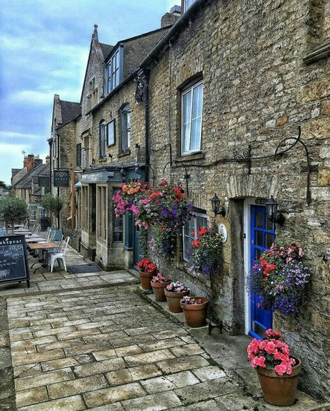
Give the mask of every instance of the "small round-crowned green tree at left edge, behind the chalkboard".
[(11, 224), (11, 234), (14, 234), (14, 224), (20, 224), (29, 218), (27, 204), (24, 200), (6, 196), (0, 199), (0, 219), (6, 224)]

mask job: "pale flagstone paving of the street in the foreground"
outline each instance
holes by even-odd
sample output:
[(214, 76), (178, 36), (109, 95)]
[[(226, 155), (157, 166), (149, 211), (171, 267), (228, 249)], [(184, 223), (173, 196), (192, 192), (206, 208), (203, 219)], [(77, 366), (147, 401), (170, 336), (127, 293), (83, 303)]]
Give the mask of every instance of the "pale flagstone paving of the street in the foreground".
[[(72, 263), (86, 261), (70, 249)], [(138, 295), (136, 283), (123, 271), (41, 269), (31, 288), (2, 287), (10, 341), (3, 329), (0, 409), (15, 410), (15, 401), (19, 411), (277, 409), (262, 401), (246, 336), (233, 343), (217, 330), (188, 329), (182, 314)], [(328, 409), (306, 394), (297, 399), (290, 410)]]

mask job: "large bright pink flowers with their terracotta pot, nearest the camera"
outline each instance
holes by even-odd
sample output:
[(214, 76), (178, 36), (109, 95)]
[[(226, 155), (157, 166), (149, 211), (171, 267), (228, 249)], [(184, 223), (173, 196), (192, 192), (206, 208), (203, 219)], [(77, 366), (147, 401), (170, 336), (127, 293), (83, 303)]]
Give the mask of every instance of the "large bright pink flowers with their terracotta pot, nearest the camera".
[(262, 394), (267, 403), (284, 407), (295, 400), (299, 359), (290, 355), (288, 344), (280, 341), (281, 332), (267, 329), (263, 340), (253, 339), (247, 348), (251, 366), (258, 373)]

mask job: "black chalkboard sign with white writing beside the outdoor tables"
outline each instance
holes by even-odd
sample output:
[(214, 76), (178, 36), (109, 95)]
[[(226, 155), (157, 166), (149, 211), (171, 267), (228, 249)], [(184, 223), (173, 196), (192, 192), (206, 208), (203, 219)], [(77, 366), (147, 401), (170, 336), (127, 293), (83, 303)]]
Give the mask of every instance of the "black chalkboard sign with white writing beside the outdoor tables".
[(0, 236), (0, 284), (27, 281), (30, 286), (29, 265), (24, 235)]

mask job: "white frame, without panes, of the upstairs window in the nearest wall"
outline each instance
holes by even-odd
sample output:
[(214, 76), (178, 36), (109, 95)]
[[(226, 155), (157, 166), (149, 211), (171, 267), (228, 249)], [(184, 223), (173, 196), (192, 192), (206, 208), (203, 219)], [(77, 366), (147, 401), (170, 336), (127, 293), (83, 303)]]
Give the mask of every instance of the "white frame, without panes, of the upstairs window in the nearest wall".
[[(192, 110), (193, 110), (193, 99), (194, 99), (194, 89), (198, 88), (199, 86), (203, 85), (202, 88), (202, 102), (201, 102), (201, 133), (200, 133), (200, 140), (199, 140), (199, 147), (194, 148), (194, 149), (189, 149), (189, 150), (184, 150), (184, 124), (183, 124), (183, 110), (184, 110), (184, 104), (183, 104), (183, 99), (184, 95), (187, 95), (192, 91), (191, 95), (191, 108), (190, 108), (190, 116), (192, 115)], [(182, 157), (191, 155), (194, 153), (200, 153), (202, 150), (202, 131), (203, 131), (203, 97), (204, 97), (204, 82), (203, 78), (200, 76), (191, 79), (190, 81), (186, 82), (186, 85), (181, 88), (180, 90), (180, 135), (181, 135), (181, 141), (180, 141), (180, 155)], [(189, 132), (189, 144), (191, 141), (191, 125), (192, 121), (190, 120), (190, 132)]]

